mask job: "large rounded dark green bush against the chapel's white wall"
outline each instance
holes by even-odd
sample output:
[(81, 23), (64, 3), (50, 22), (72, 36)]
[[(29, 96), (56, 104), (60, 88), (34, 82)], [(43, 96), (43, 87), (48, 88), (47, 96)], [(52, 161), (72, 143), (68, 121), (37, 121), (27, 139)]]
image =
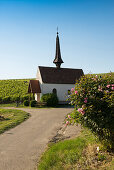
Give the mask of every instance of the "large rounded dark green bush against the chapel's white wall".
[(57, 106), (58, 97), (56, 94), (47, 93), (42, 95), (41, 102), (46, 102), (47, 106)]

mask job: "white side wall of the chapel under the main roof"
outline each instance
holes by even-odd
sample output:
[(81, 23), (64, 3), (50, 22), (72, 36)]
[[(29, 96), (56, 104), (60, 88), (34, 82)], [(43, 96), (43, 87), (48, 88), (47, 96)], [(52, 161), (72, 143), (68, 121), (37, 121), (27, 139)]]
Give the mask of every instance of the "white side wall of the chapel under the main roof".
[(68, 90), (73, 88), (75, 84), (40, 84), (42, 94), (52, 93), (55, 88), (59, 101), (66, 101), (68, 97)]

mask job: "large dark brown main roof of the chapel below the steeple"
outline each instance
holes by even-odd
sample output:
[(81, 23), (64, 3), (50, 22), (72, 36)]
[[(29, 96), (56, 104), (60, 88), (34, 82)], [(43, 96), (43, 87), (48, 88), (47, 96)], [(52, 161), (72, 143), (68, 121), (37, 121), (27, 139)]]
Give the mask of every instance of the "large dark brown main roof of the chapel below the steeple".
[(82, 69), (55, 68), (39, 66), (43, 83), (75, 84), (84, 75)]

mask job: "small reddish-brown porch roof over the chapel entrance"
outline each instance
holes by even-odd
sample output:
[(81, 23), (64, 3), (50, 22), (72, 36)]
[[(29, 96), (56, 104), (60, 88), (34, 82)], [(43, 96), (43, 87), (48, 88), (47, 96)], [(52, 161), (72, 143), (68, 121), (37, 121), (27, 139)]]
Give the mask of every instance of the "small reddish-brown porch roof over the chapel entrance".
[(28, 93), (41, 93), (40, 84), (38, 80), (30, 80)]

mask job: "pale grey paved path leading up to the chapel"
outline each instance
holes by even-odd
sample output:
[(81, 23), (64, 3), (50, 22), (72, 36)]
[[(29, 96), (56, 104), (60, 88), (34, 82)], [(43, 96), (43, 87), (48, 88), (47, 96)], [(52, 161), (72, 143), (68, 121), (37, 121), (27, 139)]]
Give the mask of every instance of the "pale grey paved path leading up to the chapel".
[(31, 117), (0, 135), (0, 170), (34, 170), (70, 108), (20, 109)]

